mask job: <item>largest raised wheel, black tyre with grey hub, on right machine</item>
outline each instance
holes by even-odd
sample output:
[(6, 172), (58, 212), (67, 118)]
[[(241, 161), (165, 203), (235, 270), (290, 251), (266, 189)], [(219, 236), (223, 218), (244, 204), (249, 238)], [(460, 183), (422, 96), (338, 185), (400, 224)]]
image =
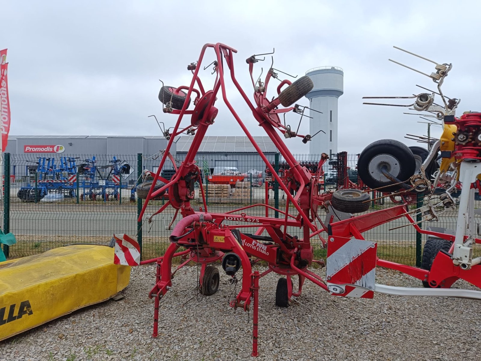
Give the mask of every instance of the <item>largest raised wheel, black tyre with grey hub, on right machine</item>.
[(395, 192), (401, 187), (382, 175), (380, 168), (386, 166), (388, 172), (400, 181), (407, 181), (414, 175), (416, 161), (413, 152), (405, 144), (383, 139), (369, 144), (359, 155), (357, 172), (361, 180), (372, 189), (382, 188), (382, 192)]

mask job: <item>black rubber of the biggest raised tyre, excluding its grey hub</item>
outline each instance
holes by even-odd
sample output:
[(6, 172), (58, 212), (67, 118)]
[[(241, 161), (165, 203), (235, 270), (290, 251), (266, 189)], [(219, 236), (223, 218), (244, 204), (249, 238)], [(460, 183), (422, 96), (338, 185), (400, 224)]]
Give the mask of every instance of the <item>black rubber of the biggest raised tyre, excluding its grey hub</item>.
[(395, 166), (399, 168), (397, 174), (392, 174), (400, 181), (407, 181), (414, 175), (416, 168), (416, 161), (413, 152), (403, 143), (393, 139), (382, 139), (377, 142), (369, 144), (359, 155), (357, 160), (357, 172), (359, 178), (371, 189), (382, 188), (382, 192), (395, 192), (401, 187), (399, 185), (391, 184), (396, 181), (380, 181), (371, 176), (369, 165), (371, 161), (379, 156), (387, 155), (396, 160)]

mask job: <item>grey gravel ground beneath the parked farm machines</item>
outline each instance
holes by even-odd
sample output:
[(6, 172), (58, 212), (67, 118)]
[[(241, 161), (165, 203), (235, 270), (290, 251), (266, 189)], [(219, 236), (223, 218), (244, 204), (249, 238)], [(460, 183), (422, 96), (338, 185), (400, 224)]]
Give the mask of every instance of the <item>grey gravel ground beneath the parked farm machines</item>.
[[(318, 270), (321, 274), (324, 273)], [(231, 286), (186, 303), (196, 267), (176, 274), (161, 302), (153, 339), (154, 266), (132, 269), (125, 298), (79, 310), (0, 343), (0, 361), (13, 360), (247, 360), (252, 345), (247, 313), (227, 305)], [(277, 275), (261, 280), (258, 360), (479, 360), (481, 302), (448, 297), (374, 299), (330, 296), (306, 281), (299, 300), (311, 310), (274, 305)], [(399, 272), (378, 269), (378, 283), (419, 286)], [(456, 285), (455, 285), (456, 286)], [(473, 317), (474, 315), (475, 317)]]

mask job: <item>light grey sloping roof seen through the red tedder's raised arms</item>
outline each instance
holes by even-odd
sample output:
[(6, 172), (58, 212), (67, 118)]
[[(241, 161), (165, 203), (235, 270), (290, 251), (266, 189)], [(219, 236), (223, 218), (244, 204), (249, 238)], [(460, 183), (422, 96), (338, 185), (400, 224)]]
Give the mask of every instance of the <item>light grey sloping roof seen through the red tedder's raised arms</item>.
[[(277, 153), (269, 137), (253, 137), (263, 153)], [(177, 153), (187, 153), (194, 137), (182, 136), (177, 140)], [(209, 136), (204, 137), (198, 152), (204, 153), (257, 153), (247, 137)]]

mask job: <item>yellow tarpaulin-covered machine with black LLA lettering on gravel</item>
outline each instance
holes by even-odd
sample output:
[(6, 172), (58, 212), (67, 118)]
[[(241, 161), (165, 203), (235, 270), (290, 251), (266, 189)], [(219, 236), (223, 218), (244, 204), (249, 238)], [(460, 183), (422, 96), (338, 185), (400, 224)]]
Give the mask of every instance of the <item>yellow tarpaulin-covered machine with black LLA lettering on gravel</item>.
[(0, 341), (105, 301), (129, 283), (114, 248), (70, 245), (0, 263)]

